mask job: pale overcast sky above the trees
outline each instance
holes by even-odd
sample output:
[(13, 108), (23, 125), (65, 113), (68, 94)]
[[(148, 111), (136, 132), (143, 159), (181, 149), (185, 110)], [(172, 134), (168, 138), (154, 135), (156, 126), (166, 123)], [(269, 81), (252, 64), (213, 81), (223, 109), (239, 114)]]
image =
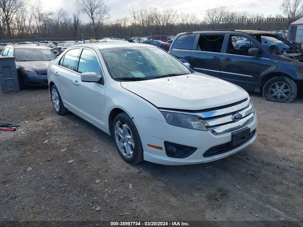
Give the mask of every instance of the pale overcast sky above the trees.
[[(76, 12), (76, 7), (73, 4), (73, 0), (41, 0), (45, 10), (51, 10), (55, 12), (61, 7), (68, 11), (71, 16), (73, 12)], [(216, 0), (216, 1), (201, 1), (201, 0), (110, 0), (104, 1), (110, 8), (111, 21), (115, 19), (129, 15), (129, 11), (139, 8), (174, 8), (178, 12), (195, 13), (198, 18), (202, 18), (205, 10), (208, 8), (214, 8), (217, 6), (225, 5), (231, 11), (249, 11), (259, 12), (264, 15), (275, 15), (281, 13), (279, 7), (282, 0)], [(81, 20), (88, 22), (86, 15), (81, 15)]]

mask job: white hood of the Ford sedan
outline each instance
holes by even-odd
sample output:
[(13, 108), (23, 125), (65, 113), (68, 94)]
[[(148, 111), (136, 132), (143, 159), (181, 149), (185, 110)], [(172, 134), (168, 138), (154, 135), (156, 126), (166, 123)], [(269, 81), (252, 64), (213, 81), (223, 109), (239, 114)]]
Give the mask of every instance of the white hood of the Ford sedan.
[(144, 81), (121, 86), (158, 108), (201, 110), (238, 102), (248, 93), (229, 82), (201, 73)]

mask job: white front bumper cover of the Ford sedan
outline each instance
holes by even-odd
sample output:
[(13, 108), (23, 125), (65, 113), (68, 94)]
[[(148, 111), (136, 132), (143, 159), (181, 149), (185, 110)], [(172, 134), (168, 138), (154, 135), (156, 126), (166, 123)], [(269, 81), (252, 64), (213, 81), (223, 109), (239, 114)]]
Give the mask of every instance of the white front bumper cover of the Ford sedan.
[[(210, 148), (217, 145), (222, 145), (231, 141), (231, 132), (226, 132), (220, 135), (214, 135), (210, 131), (203, 132), (198, 130), (184, 129), (167, 124), (167, 122), (149, 119), (145, 117), (137, 117), (133, 119), (143, 146), (144, 160), (154, 162), (163, 165), (188, 165), (211, 162), (218, 159), (225, 158), (232, 155), (248, 145), (250, 145), (256, 139), (257, 133), (255, 133), (248, 142), (236, 147), (223, 154), (203, 157), (203, 154)], [(257, 128), (257, 115), (254, 115), (254, 119), (245, 127), (250, 128), (250, 132), (253, 132)], [(237, 129), (233, 132), (237, 132)], [(177, 143), (181, 145), (191, 146), (197, 148), (197, 150), (187, 158), (171, 158), (166, 155), (164, 141)], [(160, 146), (163, 150), (149, 147), (147, 144)]]

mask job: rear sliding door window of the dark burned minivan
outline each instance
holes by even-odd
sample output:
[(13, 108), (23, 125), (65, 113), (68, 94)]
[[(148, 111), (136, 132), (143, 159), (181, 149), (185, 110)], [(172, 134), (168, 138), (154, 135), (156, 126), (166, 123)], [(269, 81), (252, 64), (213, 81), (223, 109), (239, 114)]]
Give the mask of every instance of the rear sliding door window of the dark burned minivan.
[(221, 53), (224, 35), (200, 35), (196, 50)]

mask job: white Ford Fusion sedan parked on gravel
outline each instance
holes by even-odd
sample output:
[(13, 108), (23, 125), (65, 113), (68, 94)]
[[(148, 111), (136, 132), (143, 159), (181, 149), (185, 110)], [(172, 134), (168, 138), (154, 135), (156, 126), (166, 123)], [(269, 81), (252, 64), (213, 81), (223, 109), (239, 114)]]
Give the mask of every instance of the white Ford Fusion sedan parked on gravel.
[(75, 45), (48, 66), (55, 112), (113, 137), (121, 157), (165, 165), (211, 162), (256, 139), (248, 93), (147, 44)]

